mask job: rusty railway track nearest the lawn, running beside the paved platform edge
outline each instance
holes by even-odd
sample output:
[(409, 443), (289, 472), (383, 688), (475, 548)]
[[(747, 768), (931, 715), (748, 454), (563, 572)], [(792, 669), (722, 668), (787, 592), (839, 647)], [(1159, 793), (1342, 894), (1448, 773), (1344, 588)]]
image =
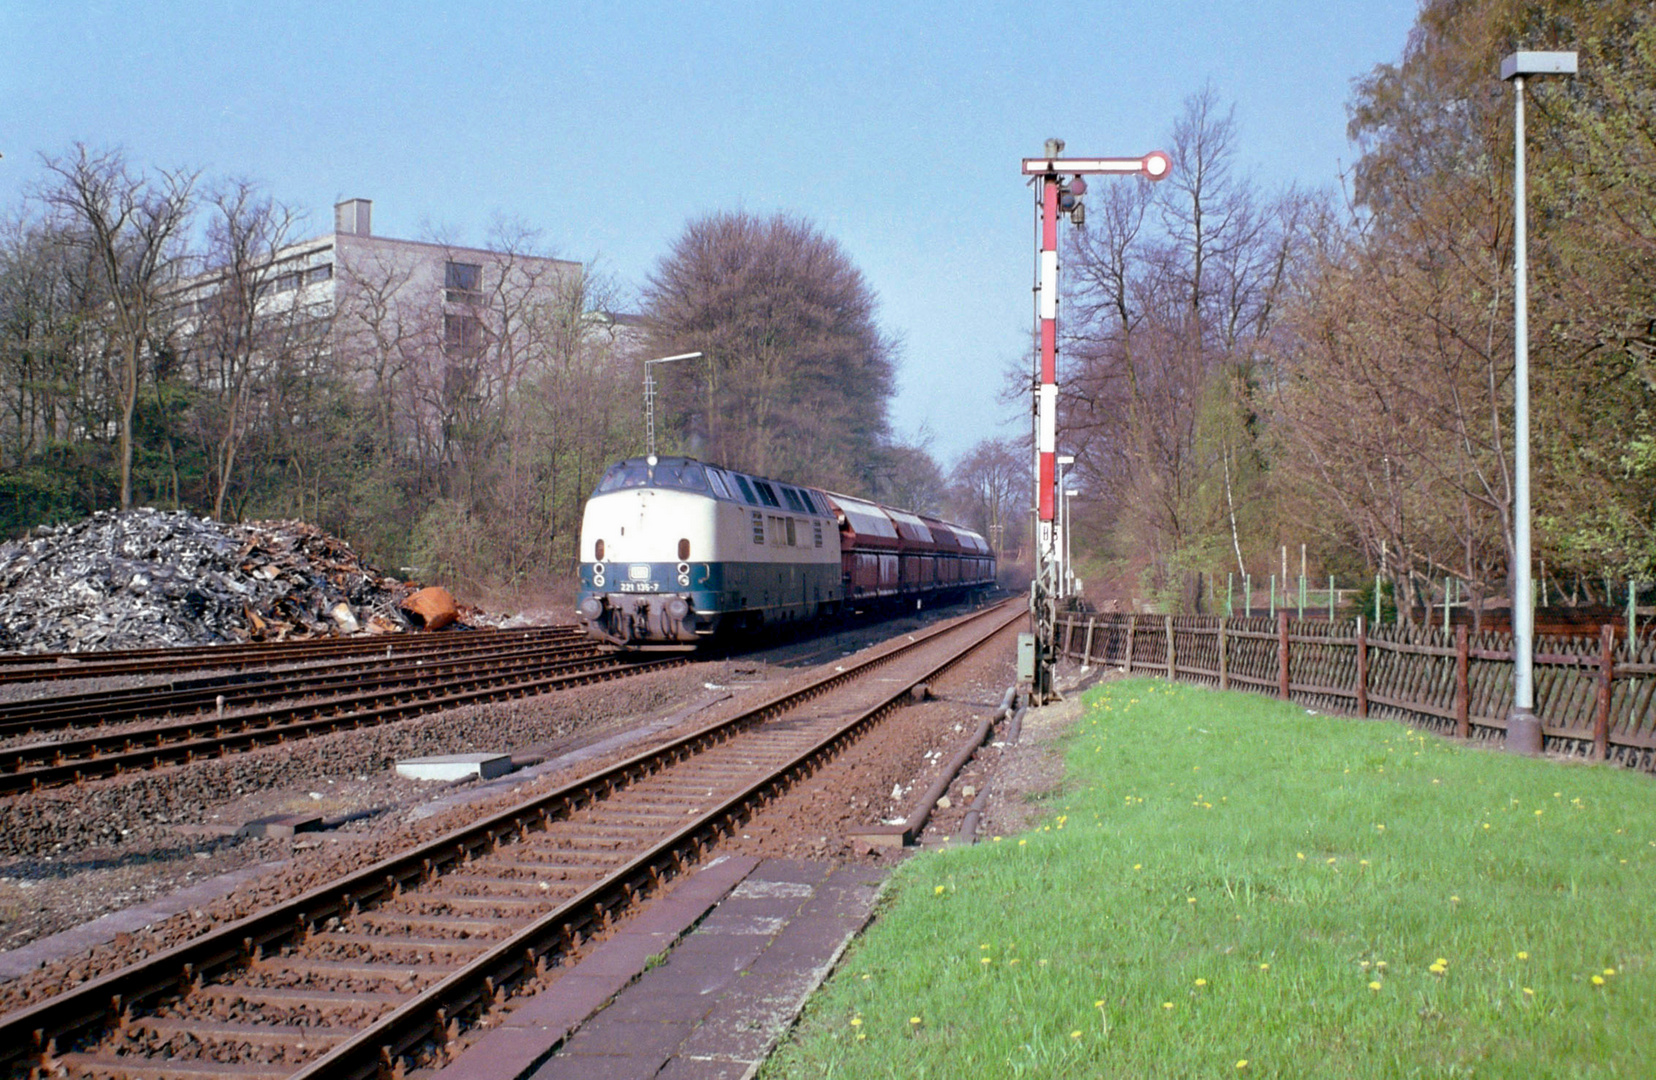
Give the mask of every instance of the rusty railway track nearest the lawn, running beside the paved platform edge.
[(353, 1080), (445, 1060), (770, 795), (1022, 618), (944, 623), (747, 712), (0, 1017), (10, 1075)]

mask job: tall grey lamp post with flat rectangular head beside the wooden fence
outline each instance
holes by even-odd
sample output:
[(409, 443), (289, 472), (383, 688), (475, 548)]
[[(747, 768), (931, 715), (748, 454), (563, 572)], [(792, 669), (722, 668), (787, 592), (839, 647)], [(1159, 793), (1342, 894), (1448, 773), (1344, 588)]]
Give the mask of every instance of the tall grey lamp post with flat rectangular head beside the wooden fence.
[(1512, 83), (1515, 109), (1512, 207), (1517, 225), (1512, 252), (1514, 306), (1514, 469), (1512, 494), (1512, 712), (1507, 749), (1542, 752), (1542, 722), (1535, 716), (1535, 590), (1530, 585), (1530, 263), (1528, 214), (1524, 184), (1524, 80), (1530, 75), (1575, 75), (1575, 53), (1512, 53), (1500, 61), (1500, 78)]

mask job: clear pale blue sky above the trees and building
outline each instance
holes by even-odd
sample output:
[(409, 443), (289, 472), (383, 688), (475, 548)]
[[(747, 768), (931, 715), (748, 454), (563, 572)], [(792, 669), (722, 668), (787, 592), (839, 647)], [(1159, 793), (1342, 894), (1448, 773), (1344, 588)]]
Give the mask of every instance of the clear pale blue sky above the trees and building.
[(903, 343), (893, 421), (947, 465), (1027, 424), (995, 401), (1030, 313), (1018, 159), (1161, 147), (1235, 103), (1240, 164), (1333, 184), (1351, 80), (1414, 0), (1116, 3), (0, 5), (0, 207), (75, 141), (245, 176), (331, 229), (477, 243), (495, 215), (636, 292), (684, 224), (788, 210), (835, 237)]

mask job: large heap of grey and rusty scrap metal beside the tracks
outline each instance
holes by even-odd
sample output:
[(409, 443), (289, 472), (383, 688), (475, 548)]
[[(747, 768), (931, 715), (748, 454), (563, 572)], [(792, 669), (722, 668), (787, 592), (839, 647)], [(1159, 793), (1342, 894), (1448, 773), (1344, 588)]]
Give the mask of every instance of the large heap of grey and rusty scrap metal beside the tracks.
[(0, 545), (0, 651), (402, 631), (414, 590), (303, 522), (101, 510)]

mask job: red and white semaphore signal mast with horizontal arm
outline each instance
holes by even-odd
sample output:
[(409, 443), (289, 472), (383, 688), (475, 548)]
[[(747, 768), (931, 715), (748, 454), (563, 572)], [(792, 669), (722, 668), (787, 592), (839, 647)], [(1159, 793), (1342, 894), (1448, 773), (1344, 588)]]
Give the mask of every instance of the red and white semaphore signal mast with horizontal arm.
[[(1035, 581), (1030, 585), (1030, 620), (1035, 631), (1035, 666), (1030, 697), (1053, 697), (1058, 626), (1058, 214), (1083, 222), (1085, 176), (1143, 176), (1166, 179), (1172, 159), (1163, 151), (1143, 157), (1063, 157), (1063, 139), (1047, 139), (1045, 157), (1025, 157), (1023, 176), (1035, 177), (1040, 214), (1040, 280), (1035, 283), (1035, 323), (1040, 331), (1035, 371)], [(1068, 177), (1068, 179), (1065, 179)]]

